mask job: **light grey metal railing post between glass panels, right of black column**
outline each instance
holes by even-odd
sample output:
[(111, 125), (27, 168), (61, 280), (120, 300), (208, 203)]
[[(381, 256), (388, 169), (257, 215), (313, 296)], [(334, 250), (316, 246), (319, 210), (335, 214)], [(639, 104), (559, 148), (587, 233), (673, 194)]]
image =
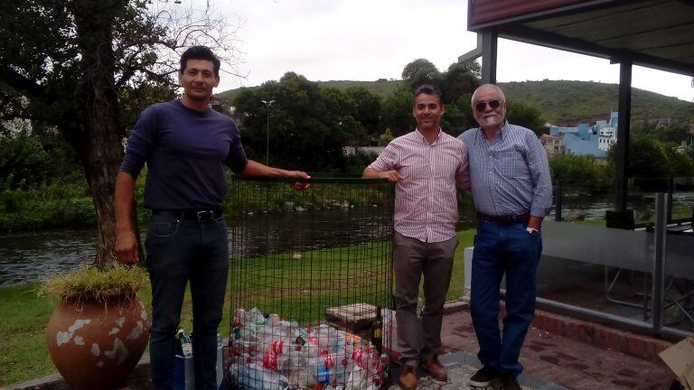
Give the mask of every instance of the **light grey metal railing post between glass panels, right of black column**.
[(653, 247), (652, 317), (653, 330), (662, 327), (663, 286), (665, 285), (665, 238), (668, 231), (668, 198), (658, 192), (655, 198), (655, 234)]

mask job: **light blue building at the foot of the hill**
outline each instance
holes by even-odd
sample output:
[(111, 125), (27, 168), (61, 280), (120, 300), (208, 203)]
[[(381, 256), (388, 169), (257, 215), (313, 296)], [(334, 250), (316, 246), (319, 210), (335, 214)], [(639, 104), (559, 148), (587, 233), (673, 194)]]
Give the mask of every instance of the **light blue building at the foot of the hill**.
[(618, 113), (613, 111), (610, 120), (596, 121), (595, 125), (578, 124), (577, 127), (550, 126), (549, 134), (564, 137), (565, 153), (607, 157), (610, 147), (617, 142)]

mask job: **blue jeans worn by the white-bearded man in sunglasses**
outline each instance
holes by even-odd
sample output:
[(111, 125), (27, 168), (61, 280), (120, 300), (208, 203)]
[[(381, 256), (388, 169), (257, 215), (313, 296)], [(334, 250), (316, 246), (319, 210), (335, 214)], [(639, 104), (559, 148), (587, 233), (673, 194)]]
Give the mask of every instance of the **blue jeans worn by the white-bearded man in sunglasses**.
[[(526, 224), (480, 221), (474, 241), (471, 314), (485, 367), (520, 374), (518, 357), (535, 315), (536, 274), (542, 237)], [(499, 330), (499, 289), (506, 274), (506, 317)]]

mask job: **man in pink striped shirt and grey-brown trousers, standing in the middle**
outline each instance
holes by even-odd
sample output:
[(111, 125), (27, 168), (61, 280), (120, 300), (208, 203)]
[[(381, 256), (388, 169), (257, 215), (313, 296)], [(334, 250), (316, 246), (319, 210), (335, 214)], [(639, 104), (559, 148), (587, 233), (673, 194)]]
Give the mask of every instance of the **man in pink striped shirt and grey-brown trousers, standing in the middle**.
[[(447, 379), (437, 355), (445, 293), (458, 246), (456, 184), (470, 188), (465, 144), (440, 127), (445, 113), (441, 91), (424, 85), (414, 95), (417, 129), (394, 139), (363, 172), (364, 178), (396, 183), (393, 257), (403, 367), (399, 385), (405, 390), (417, 387), (419, 362), (434, 379)], [(420, 323), (417, 293), (422, 274), (426, 303)]]

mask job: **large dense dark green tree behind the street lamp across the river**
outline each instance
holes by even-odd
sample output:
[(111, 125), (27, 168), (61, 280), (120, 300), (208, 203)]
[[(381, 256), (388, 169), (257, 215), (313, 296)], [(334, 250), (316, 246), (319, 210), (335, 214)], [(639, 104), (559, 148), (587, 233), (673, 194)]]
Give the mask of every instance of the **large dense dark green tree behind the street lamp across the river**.
[(294, 72), (258, 88), (244, 88), (235, 98), (241, 135), (250, 158), (265, 156), (267, 107), (270, 163), (309, 172), (344, 172), (342, 146), (363, 142), (364, 128), (355, 119), (352, 99), (335, 88)]

